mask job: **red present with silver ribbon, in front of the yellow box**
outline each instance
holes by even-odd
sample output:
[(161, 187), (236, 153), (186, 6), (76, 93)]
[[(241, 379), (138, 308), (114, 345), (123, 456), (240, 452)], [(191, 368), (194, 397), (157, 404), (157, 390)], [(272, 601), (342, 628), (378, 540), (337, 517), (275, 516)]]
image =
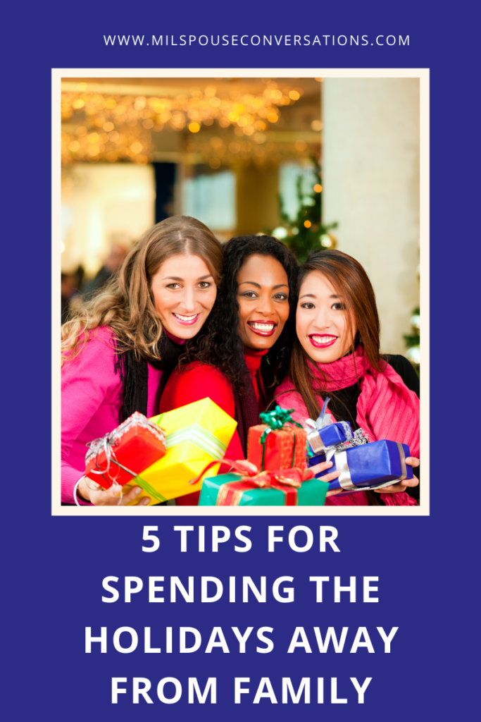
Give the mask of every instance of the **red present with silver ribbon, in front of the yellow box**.
[(124, 485), (165, 454), (165, 432), (135, 412), (100, 439), (89, 444), (85, 476), (109, 489), (114, 482)]

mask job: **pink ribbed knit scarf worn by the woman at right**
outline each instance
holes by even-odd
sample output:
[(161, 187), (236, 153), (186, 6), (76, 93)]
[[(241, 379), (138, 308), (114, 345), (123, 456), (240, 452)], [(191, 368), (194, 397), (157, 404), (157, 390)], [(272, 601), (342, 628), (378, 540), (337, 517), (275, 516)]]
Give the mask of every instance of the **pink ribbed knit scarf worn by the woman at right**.
[[(390, 439), (405, 443), (409, 445), (411, 456), (419, 458), (418, 396), (407, 388), (392, 366), (386, 362), (381, 363), (381, 366), (384, 367), (383, 370), (376, 371), (367, 360), (362, 347), (358, 347), (354, 354), (343, 356), (332, 363), (317, 364), (309, 361), (312, 374), (319, 379), (322, 391), (327, 393), (353, 386), (358, 379), (361, 379), (356, 422), (366, 432), (369, 441)], [(309, 418), (302, 396), (294, 390), (290, 378), (283, 380), (275, 392), (275, 397), (284, 409), (294, 407), (295, 412), (292, 416), (296, 421), (304, 423)], [(364, 496), (363, 492), (357, 492), (338, 500), (336, 497), (330, 497), (327, 504), (366, 504), (367, 500), (361, 501)], [(358, 498), (354, 501), (353, 497)], [(381, 498), (389, 506), (415, 504), (405, 492), (383, 494)]]

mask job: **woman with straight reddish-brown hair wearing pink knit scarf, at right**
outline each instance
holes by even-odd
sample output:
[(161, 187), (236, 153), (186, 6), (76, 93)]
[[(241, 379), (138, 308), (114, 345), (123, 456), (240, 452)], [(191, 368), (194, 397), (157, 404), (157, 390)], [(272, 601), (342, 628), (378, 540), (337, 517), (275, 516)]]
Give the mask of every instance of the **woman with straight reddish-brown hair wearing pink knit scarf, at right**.
[[(325, 396), (335, 421), (348, 421), (358, 440), (391, 439), (410, 447), (418, 466), (419, 381), (402, 356), (381, 357), (379, 316), (371, 282), (361, 264), (340, 251), (314, 251), (299, 279), (290, 377), (276, 392), (294, 419), (316, 419)], [(362, 436), (361, 436), (362, 435)], [(418, 479), (356, 492), (326, 505), (415, 505), (405, 489)]]

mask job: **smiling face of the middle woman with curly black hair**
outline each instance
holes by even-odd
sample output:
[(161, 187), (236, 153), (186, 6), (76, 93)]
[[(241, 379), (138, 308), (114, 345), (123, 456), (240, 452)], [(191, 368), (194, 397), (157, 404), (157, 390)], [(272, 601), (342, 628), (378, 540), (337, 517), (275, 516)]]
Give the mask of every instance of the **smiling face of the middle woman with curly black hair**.
[(237, 274), (239, 336), (249, 349), (273, 347), (289, 316), (286, 271), (273, 256), (249, 256)]

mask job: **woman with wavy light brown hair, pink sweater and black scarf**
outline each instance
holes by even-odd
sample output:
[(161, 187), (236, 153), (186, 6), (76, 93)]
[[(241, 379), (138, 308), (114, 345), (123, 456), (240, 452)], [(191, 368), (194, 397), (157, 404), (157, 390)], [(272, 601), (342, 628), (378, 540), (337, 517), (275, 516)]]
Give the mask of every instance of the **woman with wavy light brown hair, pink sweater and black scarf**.
[[(188, 216), (144, 234), (105, 290), (62, 326), (62, 502), (125, 505), (83, 476), (86, 444), (138, 411), (154, 416), (162, 386), (206, 322), (221, 277), (222, 247)], [(142, 503), (148, 504), (145, 498)]]

